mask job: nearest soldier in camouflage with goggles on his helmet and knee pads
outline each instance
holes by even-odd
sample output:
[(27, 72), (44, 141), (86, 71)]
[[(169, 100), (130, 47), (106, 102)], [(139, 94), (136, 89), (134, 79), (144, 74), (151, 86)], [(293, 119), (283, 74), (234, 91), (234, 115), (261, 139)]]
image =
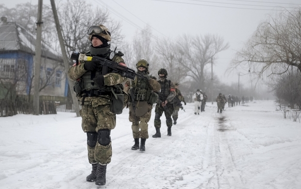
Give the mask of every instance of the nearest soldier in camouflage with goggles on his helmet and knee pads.
[[(90, 51), (79, 54), (79, 64), (68, 70), (68, 76), (73, 81), (77, 80), (74, 90), (82, 105), (82, 129), (87, 133), (88, 160), (92, 164), (92, 172), (86, 180), (105, 185), (106, 168), (112, 157), (110, 133), (116, 126), (116, 113), (120, 113), (116, 108), (122, 110), (128, 101), (128, 95), (121, 94), (121, 83), (127, 79), (112, 73), (111, 69), (98, 68), (97, 63), (87, 61), (87, 56), (98, 56), (125, 66), (121, 58), (123, 53), (110, 50), (108, 41), (111, 41), (111, 34), (108, 29), (103, 25), (92, 26), (87, 34), (91, 42)], [(112, 95), (117, 100), (112, 99)], [(115, 102), (113, 108), (111, 101)]]

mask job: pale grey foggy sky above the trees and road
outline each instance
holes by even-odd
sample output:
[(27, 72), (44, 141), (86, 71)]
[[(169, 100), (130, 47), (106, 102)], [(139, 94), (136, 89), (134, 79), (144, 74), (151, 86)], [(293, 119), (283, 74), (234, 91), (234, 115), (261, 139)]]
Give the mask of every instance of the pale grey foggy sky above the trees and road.
[[(177, 36), (181, 36), (183, 34), (219, 34), (220, 36), (224, 37), (225, 42), (229, 42), (230, 48), (226, 51), (218, 53), (218, 59), (215, 62), (213, 71), (218, 75), (218, 78), (223, 83), (229, 84), (233, 82), (237, 83), (238, 75), (236, 73), (232, 73), (230, 74), (230, 76), (228, 76), (228, 74), (225, 74), (225, 70), (228, 68), (229, 63), (234, 56), (234, 53), (236, 51), (239, 51), (243, 47), (243, 44), (256, 30), (260, 21), (266, 19), (268, 14), (272, 14), (272, 10), (279, 10), (280, 6), (301, 6), (300, 0), (263, 0), (264, 2), (273, 3), (259, 3), (244, 0), (213, 0), (214, 2), (219, 3), (204, 2), (205, 0), (167, 0), (174, 2), (166, 2), (161, 0), (86, 1), (99, 7), (106, 7), (106, 5), (104, 5), (102, 2), (110, 6), (107, 7), (110, 12), (110, 16), (115, 20), (120, 20), (120, 22), (122, 23), (122, 34), (125, 35), (125, 40), (129, 42), (132, 42), (133, 37), (135, 37), (135, 33), (144, 28), (147, 24), (151, 26), (152, 33), (155, 36), (159, 38), (167, 37), (170, 40), (175, 41), (177, 41)], [(176, 1), (203, 5), (176, 3)], [(0, 0), (0, 3), (4, 4), (8, 8), (14, 7), (17, 3), (25, 2), (32, 2), (33, 4), (37, 4), (38, 0)], [(235, 5), (222, 4), (221, 2), (234, 3)], [(300, 5), (277, 4), (276, 2), (295, 3)], [(50, 4), (50, 0), (43, 0), (43, 3)], [(248, 6), (237, 4), (248, 4)], [(112, 11), (111, 8), (116, 12)], [(250, 10), (250, 8), (267, 10)], [(291, 10), (291, 8), (286, 9)], [(211, 70), (209, 66), (207, 66), (207, 68), (208, 70)], [(240, 77), (241, 85), (248, 86), (250, 83), (248, 79), (248, 76)]]

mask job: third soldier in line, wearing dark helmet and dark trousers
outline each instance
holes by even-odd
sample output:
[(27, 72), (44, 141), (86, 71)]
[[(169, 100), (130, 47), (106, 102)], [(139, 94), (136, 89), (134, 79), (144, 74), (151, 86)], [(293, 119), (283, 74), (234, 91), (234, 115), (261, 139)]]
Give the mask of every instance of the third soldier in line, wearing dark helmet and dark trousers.
[(152, 137), (161, 137), (160, 127), (163, 112), (166, 117), (166, 125), (167, 125), (167, 136), (171, 136), (171, 126), (172, 120), (171, 115), (173, 113), (173, 98), (176, 96), (176, 89), (172, 83), (172, 81), (167, 80), (167, 70), (159, 69), (159, 84), (161, 85), (161, 90), (159, 92), (159, 99), (155, 109), (155, 120), (154, 125), (156, 128), (156, 134)]

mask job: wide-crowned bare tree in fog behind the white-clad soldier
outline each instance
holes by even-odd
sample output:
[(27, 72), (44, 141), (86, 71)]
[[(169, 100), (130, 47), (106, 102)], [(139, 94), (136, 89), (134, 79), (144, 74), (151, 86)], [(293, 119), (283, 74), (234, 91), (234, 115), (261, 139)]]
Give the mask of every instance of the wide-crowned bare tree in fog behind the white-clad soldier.
[(188, 70), (187, 76), (204, 86), (204, 67), (217, 59), (217, 53), (229, 48), (221, 36), (206, 34), (204, 36), (184, 35), (177, 46), (178, 62)]

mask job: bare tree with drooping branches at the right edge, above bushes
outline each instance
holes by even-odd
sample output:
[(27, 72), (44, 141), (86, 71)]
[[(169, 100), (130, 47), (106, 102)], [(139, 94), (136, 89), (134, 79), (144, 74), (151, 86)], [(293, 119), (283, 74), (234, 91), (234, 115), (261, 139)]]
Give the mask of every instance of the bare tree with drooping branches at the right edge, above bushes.
[(301, 8), (268, 16), (236, 53), (231, 69), (262, 77), (285, 73), (290, 66), (301, 71)]

